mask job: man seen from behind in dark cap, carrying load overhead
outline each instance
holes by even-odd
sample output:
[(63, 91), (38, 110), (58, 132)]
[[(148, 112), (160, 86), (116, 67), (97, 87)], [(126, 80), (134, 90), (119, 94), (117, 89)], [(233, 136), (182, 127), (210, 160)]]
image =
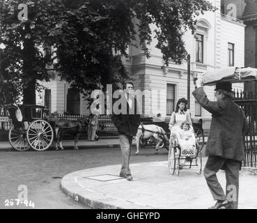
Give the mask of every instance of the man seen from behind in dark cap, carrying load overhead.
[[(198, 84), (199, 86), (199, 84)], [(216, 102), (208, 100), (203, 87), (193, 91), (198, 103), (212, 113), (210, 134), (206, 145), (208, 161), (203, 170), (212, 197), (217, 201), (211, 209), (238, 208), (239, 170), (244, 160), (243, 134), (246, 118), (232, 100), (232, 86), (228, 82), (216, 84)], [(226, 172), (226, 195), (217, 180), (219, 169)]]

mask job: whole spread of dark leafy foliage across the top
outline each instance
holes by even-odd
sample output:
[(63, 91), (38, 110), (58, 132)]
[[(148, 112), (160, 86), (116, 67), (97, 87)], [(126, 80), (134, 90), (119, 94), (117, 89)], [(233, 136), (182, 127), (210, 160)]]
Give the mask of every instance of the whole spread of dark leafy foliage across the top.
[[(19, 3), (28, 5), (28, 21), (17, 20)], [(85, 94), (99, 84), (115, 88), (129, 77), (121, 59), (135, 43), (136, 30), (146, 56), (155, 36), (166, 65), (170, 59), (182, 63), (183, 34), (194, 31), (196, 16), (215, 10), (205, 0), (2, 0), (0, 8), (3, 79), (16, 79), (22, 89), (39, 86), (38, 80), (49, 80), (45, 65), (57, 59), (59, 76)], [(40, 45), (54, 47), (52, 60)]]

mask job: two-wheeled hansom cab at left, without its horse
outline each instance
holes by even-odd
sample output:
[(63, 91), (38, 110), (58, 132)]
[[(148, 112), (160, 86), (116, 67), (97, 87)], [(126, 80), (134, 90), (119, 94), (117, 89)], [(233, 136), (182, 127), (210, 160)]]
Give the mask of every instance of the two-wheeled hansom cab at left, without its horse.
[(40, 105), (6, 105), (13, 126), (9, 130), (10, 145), (17, 151), (33, 148), (45, 151), (54, 139), (52, 126), (44, 120), (45, 107)]

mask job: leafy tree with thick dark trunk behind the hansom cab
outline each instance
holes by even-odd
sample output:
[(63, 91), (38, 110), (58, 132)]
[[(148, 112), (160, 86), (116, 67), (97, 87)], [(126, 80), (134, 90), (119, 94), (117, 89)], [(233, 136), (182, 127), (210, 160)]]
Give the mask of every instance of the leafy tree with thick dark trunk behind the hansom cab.
[[(63, 10), (60, 0), (5, 0), (0, 2), (0, 75), (7, 89), (18, 89), (24, 104), (36, 104), (38, 80), (49, 80), (51, 60), (42, 48), (52, 44), (52, 33)], [(26, 16), (27, 15), (27, 16)], [(2, 91), (8, 94), (6, 88)], [(2, 93), (4, 93), (2, 92)]]

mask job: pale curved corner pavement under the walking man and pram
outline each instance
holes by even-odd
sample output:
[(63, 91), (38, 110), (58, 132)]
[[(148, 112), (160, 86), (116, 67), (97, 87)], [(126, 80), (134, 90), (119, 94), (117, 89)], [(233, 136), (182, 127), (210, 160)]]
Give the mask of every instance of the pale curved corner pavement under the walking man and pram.
[[(206, 157), (203, 158), (203, 165)], [(125, 209), (206, 209), (213, 201), (203, 174), (182, 169), (172, 176), (168, 162), (131, 164), (133, 181), (118, 176), (120, 165), (84, 169), (68, 174), (61, 181), (65, 194), (91, 208)], [(226, 185), (223, 171), (217, 174)], [(240, 172), (239, 208), (257, 209), (256, 173)]]

